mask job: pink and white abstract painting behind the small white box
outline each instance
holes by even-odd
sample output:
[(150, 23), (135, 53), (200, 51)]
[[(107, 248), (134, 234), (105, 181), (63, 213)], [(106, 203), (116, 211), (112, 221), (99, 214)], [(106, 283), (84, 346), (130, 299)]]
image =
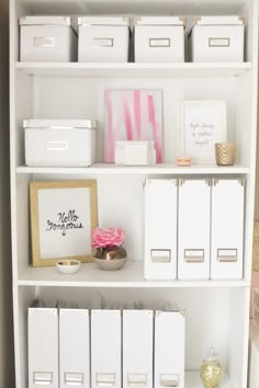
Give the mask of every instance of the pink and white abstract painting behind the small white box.
[(162, 161), (160, 90), (108, 90), (105, 104), (105, 162), (114, 162), (116, 140), (154, 140)]

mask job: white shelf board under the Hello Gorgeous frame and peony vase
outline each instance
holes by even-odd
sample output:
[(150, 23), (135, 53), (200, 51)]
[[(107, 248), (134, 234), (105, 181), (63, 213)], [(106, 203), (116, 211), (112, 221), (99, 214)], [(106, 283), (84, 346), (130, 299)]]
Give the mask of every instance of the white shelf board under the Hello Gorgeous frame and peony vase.
[(102, 271), (95, 263), (82, 264), (74, 275), (60, 274), (55, 266), (27, 267), (18, 281), (20, 286), (57, 287), (247, 287), (246, 281), (145, 281), (143, 262), (128, 260), (120, 271)]

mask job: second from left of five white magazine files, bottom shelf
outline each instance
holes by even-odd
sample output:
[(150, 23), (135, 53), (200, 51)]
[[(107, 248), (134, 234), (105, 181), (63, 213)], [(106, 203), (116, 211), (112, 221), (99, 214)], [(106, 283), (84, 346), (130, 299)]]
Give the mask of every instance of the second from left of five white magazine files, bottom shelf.
[(90, 387), (90, 328), (86, 309), (59, 309), (59, 388)]

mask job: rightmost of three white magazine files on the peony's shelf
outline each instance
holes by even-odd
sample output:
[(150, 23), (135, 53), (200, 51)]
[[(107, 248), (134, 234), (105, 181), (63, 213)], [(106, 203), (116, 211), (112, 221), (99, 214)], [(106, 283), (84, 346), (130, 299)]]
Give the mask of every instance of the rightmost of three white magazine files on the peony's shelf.
[(211, 277), (243, 278), (244, 179), (213, 180)]

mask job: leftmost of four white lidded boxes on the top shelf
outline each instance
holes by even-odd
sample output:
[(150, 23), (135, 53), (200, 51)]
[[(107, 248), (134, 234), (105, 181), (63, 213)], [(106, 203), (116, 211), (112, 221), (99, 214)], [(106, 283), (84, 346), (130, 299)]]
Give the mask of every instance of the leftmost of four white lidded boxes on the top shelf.
[(20, 18), (21, 61), (75, 61), (77, 34), (68, 16)]

